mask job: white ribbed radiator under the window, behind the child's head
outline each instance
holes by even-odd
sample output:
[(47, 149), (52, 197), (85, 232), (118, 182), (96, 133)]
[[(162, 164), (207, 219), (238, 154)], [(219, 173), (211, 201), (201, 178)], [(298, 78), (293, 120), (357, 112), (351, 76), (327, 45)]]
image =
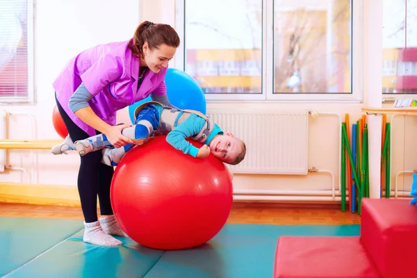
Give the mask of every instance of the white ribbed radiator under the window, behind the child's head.
[(207, 115), (246, 144), (245, 159), (228, 165), (232, 172), (308, 173), (309, 111), (211, 109)]

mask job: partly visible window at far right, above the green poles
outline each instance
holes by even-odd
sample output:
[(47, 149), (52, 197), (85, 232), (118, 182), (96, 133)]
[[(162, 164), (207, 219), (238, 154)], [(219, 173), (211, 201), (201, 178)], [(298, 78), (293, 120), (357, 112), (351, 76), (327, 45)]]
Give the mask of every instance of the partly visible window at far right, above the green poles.
[(417, 94), (417, 1), (382, 0), (383, 94)]

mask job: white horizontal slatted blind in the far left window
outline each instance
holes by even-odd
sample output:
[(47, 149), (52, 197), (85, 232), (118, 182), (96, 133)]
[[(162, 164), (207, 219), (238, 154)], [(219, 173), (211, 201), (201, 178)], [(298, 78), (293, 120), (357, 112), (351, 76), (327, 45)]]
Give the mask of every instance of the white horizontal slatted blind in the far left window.
[(0, 99), (28, 95), (28, 3), (0, 1)]

